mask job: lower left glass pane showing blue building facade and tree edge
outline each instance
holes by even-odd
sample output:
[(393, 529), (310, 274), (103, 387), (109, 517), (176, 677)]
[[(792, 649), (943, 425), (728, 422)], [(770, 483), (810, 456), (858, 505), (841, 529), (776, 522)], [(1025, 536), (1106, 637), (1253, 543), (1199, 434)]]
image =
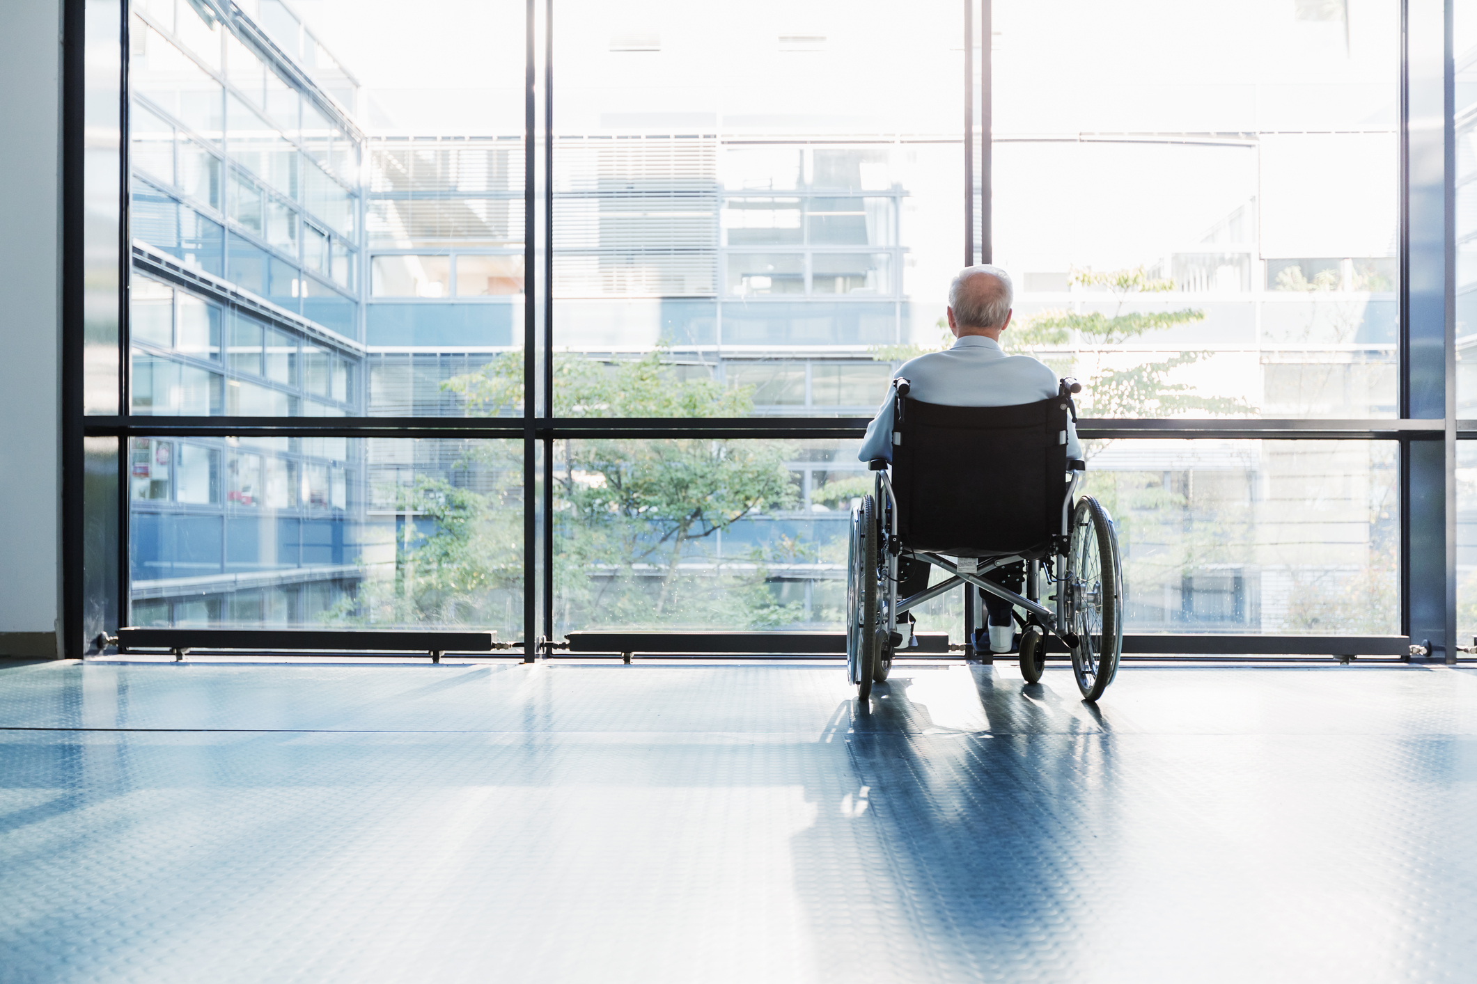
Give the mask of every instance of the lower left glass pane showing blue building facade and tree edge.
[(521, 441), (130, 441), (133, 624), (521, 637)]

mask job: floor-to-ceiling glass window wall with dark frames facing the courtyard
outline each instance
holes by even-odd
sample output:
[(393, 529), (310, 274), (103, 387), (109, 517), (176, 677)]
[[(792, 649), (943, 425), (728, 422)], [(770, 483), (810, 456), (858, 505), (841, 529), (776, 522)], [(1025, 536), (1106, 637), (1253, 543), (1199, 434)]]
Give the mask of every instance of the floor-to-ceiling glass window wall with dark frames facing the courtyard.
[(1257, 435), (1399, 415), (1397, 0), (109, 9), (124, 621), (837, 628), (861, 426), (970, 239), (1086, 384), (1130, 633), (1399, 631), (1397, 443)]

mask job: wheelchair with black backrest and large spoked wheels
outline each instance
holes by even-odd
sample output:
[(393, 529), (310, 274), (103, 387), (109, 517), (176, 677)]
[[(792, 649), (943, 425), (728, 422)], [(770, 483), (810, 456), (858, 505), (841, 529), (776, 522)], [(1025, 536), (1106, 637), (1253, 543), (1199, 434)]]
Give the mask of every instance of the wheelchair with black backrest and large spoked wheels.
[[(1083, 698), (1096, 701), (1123, 651), (1123, 564), (1108, 510), (1092, 496), (1072, 499), (1087, 468), (1066, 460), (1066, 417), (1077, 417), (1081, 385), (1062, 379), (1056, 397), (1010, 407), (922, 403), (908, 397), (907, 379), (892, 388), (892, 466), (868, 463), (873, 494), (851, 510), (846, 673), (857, 696), (870, 698), (892, 656), (916, 645), (910, 609), (973, 584), (1013, 606), (1027, 683), (1041, 679), (1047, 636), (1056, 636)], [(898, 597), (901, 562), (950, 577)], [(987, 578), (1016, 564), (1025, 595)]]

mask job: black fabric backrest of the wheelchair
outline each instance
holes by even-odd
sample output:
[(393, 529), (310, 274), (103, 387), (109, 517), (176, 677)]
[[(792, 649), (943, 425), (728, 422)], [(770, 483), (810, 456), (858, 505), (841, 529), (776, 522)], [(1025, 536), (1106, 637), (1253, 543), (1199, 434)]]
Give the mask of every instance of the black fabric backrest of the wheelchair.
[(897, 397), (892, 491), (902, 546), (990, 556), (1062, 533), (1068, 403), (945, 407)]

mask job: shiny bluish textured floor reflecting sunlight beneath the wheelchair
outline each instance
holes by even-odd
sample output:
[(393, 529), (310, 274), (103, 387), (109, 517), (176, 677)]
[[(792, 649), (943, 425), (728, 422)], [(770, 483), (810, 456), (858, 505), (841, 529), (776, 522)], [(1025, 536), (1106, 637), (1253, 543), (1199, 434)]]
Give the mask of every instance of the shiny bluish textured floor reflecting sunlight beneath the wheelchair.
[(0, 981), (1471, 981), (1477, 676), (0, 670)]

